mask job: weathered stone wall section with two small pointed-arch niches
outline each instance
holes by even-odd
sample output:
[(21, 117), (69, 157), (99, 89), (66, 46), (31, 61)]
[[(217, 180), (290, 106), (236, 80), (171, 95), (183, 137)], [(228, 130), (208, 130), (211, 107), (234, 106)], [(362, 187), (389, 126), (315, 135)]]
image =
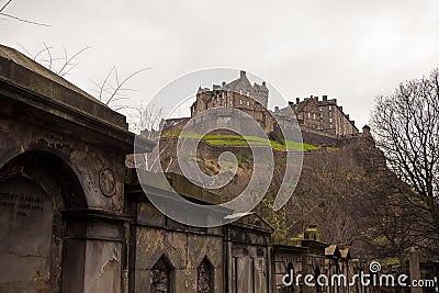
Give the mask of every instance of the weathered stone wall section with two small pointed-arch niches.
[[(164, 261), (171, 292), (269, 292), (271, 228), (249, 215), (224, 227), (190, 227), (166, 217), (139, 185), (127, 188), (130, 292), (153, 292), (155, 268)], [(207, 268), (202, 270), (202, 268)], [(203, 278), (201, 278), (203, 277)]]

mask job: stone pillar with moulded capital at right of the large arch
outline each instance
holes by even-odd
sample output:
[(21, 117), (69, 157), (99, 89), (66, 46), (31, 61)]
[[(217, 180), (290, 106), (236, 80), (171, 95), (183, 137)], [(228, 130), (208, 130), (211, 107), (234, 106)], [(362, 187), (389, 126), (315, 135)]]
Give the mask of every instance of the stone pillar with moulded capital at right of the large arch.
[(100, 211), (68, 211), (63, 292), (121, 292), (123, 224), (128, 218)]

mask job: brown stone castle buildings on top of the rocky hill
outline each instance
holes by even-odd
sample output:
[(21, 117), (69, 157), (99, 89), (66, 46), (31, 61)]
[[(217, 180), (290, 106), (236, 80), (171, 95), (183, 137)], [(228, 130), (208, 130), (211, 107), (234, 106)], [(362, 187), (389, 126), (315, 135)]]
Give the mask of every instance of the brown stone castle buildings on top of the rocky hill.
[[(354, 122), (346, 114), (342, 106), (337, 104), (337, 99), (329, 99), (323, 95), (320, 101), (318, 97), (305, 98), (301, 101), (296, 98), (295, 103), (289, 102), (283, 109), (278, 106), (274, 111), (267, 110), (269, 89), (266, 82), (251, 86), (246, 71), (241, 70), (238, 79), (222, 86), (213, 84), (212, 89), (199, 88), (196, 101), (191, 106), (191, 117), (215, 108), (235, 108), (247, 113), (256, 120), (266, 133), (275, 129), (277, 122), (285, 123), (291, 120), (294, 113), (302, 131), (317, 131), (325, 134), (346, 137), (354, 136), (359, 133)], [(292, 111), (291, 111), (292, 110)], [(274, 121), (275, 117), (275, 121)], [(176, 121), (169, 121), (176, 124)], [(180, 122), (180, 121), (179, 121)]]

